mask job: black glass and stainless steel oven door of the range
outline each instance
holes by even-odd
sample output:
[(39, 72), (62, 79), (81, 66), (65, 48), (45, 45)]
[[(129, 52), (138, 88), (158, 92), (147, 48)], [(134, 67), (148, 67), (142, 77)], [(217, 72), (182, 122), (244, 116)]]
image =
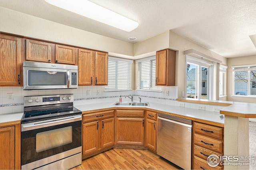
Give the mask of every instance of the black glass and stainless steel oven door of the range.
[(81, 152), (81, 115), (22, 124), (22, 169), (38, 168)]

